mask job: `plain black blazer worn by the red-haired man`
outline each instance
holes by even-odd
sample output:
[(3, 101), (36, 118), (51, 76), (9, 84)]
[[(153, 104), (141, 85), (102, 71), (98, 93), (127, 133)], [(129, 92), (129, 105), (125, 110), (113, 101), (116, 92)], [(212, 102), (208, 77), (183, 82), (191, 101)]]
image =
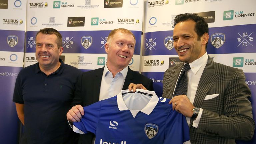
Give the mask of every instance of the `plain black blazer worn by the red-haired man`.
[[(72, 102), (74, 105), (88, 106), (99, 101), (100, 85), (103, 74), (103, 68), (84, 72), (77, 83), (75, 96)], [(130, 83), (142, 84), (148, 90), (154, 91), (153, 81), (136, 71), (131, 70), (128, 67), (128, 72), (124, 81), (123, 89), (128, 89)], [(94, 134), (81, 134), (78, 140), (78, 144), (91, 144)]]

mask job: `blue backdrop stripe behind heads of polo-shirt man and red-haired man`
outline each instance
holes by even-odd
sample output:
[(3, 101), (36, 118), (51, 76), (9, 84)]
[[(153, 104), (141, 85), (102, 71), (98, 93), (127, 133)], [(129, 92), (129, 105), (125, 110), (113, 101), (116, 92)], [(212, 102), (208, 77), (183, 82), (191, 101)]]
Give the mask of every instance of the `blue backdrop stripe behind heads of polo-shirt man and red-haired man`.
[[(62, 35), (63, 53), (105, 54), (104, 44), (110, 31), (59, 31)], [(141, 31), (132, 31), (136, 38), (134, 54), (140, 55)], [(35, 52), (35, 35), (37, 31), (26, 32), (25, 52)], [(91, 45), (85, 49), (81, 39), (88, 36)]]

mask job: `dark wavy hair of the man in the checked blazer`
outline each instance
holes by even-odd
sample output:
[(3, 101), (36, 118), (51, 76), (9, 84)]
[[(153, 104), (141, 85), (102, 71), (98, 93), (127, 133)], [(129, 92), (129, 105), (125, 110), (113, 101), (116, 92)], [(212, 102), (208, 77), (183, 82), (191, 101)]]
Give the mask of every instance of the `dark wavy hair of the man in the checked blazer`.
[[(193, 20), (194, 22), (196, 22), (194, 30), (197, 34), (197, 40), (200, 40), (200, 38), (203, 36), (204, 33), (209, 34), (208, 23), (205, 21), (205, 19), (197, 14), (192, 14), (192, 13), (177, 15), (174, 19), (174, 24), (172, 27), (174, 28), (177, 23), (187, 21), (187, 20)], [(208, 42), (206, 43), (205, 47), (207, 47), (207, 44)]]

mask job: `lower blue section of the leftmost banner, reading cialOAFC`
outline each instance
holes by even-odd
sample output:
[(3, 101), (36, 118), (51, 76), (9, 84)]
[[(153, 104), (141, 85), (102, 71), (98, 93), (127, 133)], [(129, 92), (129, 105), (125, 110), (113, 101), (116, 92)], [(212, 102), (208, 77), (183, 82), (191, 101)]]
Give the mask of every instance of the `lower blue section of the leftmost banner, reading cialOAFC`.
[(18, 116), (15, 103), (12, 101), (14, 84), (21, 67), (0, 66), (0, 142), (3, 144), (17, 143)]

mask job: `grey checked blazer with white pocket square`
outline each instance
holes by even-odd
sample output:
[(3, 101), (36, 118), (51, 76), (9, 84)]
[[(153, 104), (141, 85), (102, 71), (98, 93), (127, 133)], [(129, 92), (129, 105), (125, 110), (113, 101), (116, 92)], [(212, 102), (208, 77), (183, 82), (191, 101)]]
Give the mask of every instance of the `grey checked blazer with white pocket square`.
[[(165, 71), (163, 97), (172, 98), (183, 65)], [(219, 96), (205, 100), (212, 94)], [(208, 56), (193, 103), (203, 113), (197, 128), (190, 121), (191, 144), (234, 144), (235, 139), (250, 140), (255, 126), (250, 97), (241, 69), (213, 62)]]

